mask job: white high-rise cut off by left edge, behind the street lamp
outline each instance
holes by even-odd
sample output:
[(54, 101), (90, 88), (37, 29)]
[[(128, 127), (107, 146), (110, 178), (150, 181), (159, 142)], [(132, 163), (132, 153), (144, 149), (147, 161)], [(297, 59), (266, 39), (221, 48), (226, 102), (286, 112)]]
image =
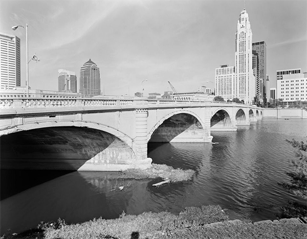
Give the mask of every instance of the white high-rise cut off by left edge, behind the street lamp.
[(1, 49), (1, 89), (20, 86), (20, 39), (0, 33)]

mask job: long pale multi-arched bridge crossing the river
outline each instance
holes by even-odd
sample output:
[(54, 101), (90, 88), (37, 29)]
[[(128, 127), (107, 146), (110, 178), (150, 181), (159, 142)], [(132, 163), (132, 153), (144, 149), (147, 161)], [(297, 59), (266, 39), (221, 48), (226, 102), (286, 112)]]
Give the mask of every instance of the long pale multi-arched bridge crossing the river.
[(244, 104), (147, 99), (2, 99), (2, 169), (145, 169), (148, 142), (211, 142), (262, 118)]

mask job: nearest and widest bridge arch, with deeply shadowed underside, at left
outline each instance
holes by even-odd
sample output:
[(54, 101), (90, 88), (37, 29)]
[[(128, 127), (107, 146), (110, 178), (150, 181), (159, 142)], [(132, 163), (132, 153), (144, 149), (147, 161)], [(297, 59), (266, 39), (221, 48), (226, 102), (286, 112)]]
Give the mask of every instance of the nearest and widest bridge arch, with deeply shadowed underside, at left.
[(43, 122), (2, 135), (3, 169), (114, 171), (134, 168), (133, 139), (91, 122)]

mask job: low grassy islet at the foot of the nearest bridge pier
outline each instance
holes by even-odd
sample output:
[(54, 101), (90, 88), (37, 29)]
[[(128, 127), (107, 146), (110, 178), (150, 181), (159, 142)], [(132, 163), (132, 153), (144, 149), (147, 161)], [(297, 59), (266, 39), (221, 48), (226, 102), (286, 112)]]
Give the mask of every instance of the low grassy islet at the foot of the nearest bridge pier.
[(162, 178), (172, 182), (188, 181), (192, 179), (195, 172), (193, 170), (174, 169), (172, 166), (165, 164), (152, 163), (151, 167), (146, 170), (128, 169), (122, 172), (123, 178), (145, 179), (145, 178)]

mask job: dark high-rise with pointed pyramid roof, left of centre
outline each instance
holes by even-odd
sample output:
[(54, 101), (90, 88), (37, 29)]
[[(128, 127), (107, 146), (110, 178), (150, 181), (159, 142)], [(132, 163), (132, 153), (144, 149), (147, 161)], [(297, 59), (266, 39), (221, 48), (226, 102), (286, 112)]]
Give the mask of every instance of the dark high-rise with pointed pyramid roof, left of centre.
[(100, 95), (100, 73), (96, 63), (86, 61), (80, 70), (80, 93), (82, 97)]

